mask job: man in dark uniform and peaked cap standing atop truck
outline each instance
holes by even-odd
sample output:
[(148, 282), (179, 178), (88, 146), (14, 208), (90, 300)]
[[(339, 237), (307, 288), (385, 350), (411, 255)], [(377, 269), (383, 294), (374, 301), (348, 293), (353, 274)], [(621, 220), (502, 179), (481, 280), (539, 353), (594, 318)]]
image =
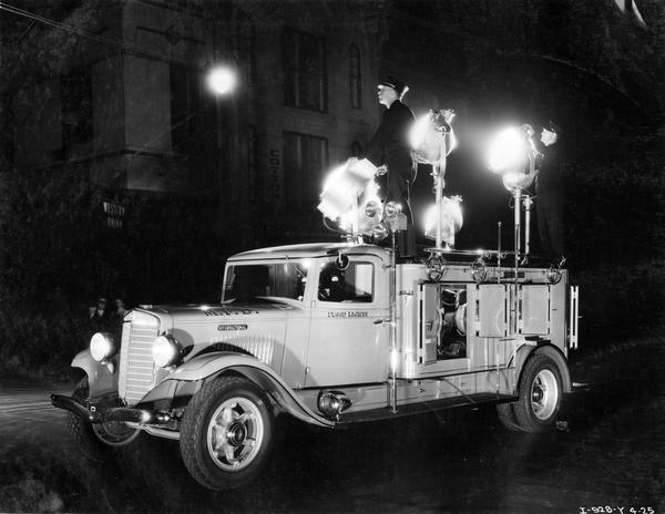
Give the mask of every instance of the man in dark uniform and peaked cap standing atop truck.
[(411, 110), (401, 102), (408, 91), (406, 84), (393, 76), (379, 83), (379, 103), (387, 107), (383, 119), (359, 158), (367, 158), (375, 166), (386, 166), (388, 172), (379, 179), (385, 191), (383, 202), (401, 204), (407, 216), (407, 229), (398, 234), (398, 256), (416, 256), (416, 234), (409, 204), (410, 186), (413, 179), (413, 162), (409, 146), (409, 130), (416, 117)]

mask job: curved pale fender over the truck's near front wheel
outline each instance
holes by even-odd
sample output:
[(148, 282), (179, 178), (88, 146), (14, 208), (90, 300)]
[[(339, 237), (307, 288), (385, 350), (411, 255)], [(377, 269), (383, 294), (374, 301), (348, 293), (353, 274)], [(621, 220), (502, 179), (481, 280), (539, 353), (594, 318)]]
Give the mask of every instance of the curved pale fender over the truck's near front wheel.
[(219, 351), (195, 357), (166, 377), (160, 386), (174, 380), (184, 382), (204, 381), (229, 372), (239, 373), (264, 391), (269, 392), (275, 401), (295, 418), (319, 426), (335, 426), (335, 422), (309, 409), (273, 368), (264, 364), (253, 356)]

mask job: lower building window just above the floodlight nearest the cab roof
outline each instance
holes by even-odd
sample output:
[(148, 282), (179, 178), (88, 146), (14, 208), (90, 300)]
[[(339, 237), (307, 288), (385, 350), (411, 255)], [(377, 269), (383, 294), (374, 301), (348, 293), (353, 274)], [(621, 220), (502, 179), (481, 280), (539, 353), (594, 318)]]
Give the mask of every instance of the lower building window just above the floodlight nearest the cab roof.
[(287, 210), (305, 213), (316, 208), (327, 166), (328, 140), (296, 132), (284, 133)]

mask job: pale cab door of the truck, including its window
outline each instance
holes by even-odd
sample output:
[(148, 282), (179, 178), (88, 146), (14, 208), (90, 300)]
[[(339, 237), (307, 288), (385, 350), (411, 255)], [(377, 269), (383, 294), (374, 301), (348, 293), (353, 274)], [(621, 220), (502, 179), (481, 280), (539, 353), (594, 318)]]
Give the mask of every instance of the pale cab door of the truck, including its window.
[(388, 376), (388, 269), (376, 256), (321, 260), (316, 274), (305, 387), (382, 382)]

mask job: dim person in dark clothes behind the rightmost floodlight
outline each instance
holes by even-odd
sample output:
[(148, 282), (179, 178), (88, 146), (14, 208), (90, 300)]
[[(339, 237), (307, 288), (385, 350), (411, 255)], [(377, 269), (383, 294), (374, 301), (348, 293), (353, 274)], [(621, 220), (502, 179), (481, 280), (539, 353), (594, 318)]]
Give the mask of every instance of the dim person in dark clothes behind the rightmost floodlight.
[(543, 254), (553, 265), (563, 265), (563, 183), (564, 146), (561, 128), (549, 122), (541, 133), (542, 160), (535, 178), (538, 232)]

